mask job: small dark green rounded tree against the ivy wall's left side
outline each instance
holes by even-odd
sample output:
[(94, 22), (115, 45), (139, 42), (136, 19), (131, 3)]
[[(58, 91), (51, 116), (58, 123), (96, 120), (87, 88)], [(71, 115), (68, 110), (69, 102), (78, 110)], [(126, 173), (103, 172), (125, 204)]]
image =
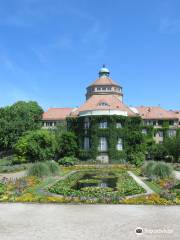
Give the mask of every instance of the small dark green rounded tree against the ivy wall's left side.
[(76, 156), (78, 151), (77, 138), (72, 132), (65, 132), (61, 135), (58, 144), (59, 157)]

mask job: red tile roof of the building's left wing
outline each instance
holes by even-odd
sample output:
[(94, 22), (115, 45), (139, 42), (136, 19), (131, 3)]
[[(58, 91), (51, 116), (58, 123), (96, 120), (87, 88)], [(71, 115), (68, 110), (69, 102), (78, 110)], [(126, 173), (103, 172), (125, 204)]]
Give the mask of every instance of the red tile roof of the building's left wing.
[(49, 108), (43, 113), (43, 120), (65, 120), (74, 108)]

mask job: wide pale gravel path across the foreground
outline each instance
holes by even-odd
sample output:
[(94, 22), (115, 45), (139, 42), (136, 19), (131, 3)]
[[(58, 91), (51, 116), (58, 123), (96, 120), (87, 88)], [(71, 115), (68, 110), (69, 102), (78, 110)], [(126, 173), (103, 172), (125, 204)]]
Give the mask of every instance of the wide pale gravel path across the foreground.
[[(180, 207), (0, 204), (1, 240), (179, 240)], [(135, 233), (141, 227), (142, 235)]]

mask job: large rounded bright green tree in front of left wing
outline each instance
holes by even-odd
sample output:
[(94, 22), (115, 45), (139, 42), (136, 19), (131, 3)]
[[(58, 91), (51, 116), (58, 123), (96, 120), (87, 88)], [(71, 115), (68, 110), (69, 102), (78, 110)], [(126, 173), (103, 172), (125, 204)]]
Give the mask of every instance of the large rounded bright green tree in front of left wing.
[(45, 161), (54, 158), (55, 135), (48, 130), (31, 131), (22, 136), (14, 147), (20, 161)]

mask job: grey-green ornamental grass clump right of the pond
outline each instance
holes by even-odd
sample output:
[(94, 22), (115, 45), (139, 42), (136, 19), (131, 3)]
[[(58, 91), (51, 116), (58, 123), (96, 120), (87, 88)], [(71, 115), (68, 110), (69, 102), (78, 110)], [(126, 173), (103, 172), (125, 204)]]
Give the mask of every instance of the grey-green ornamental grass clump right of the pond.
[(143, 167), (143, 173), (151, 179), (165, 179), (173, 176), (173, 168), (165, 162), (150, 161)]

